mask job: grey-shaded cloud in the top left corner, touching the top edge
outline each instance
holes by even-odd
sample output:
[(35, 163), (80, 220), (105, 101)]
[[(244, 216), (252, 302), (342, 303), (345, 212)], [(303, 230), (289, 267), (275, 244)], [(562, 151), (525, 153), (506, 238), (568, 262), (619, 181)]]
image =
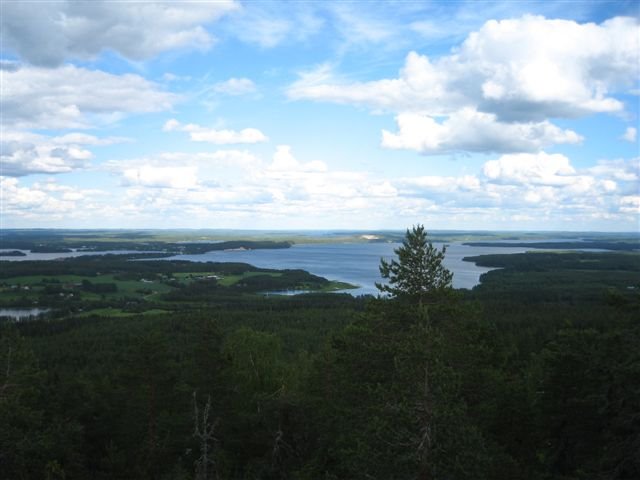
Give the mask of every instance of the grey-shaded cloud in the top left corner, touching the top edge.
[(215, 2), (63, 0), (3, 2), (0, 40), (33, 65), (55, 67), (105, 50), (144, 60), (175, 48), (207, 49), (215, 38), (203, 27), (238, 8)]

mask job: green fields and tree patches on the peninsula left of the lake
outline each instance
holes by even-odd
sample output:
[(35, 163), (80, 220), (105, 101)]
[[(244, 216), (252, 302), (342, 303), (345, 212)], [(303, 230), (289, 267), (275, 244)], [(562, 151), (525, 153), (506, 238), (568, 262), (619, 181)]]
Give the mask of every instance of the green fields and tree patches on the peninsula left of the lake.
[(5, 262), (0, 273), (0, 307), (48, 307), (56, 315), (83, 317), (122, 316), (182, 310), (227, 296), (354, 288), (301, 270), (141, 260), (140, 256), (110, 255)]

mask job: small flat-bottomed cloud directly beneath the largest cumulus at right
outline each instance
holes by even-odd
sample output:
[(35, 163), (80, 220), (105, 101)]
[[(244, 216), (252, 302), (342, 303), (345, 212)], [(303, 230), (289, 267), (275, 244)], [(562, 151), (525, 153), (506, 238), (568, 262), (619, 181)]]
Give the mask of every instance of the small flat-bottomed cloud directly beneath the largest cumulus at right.
[(396, 117), (398, 133), (382, 131), (382, 146), (425, 154), (451, 151), (535, 152), (558, 143), (579, 143), (582, 137), (548, 121), (504, 123), (494, 114), (462, 109), (443, 122), (416, 113)]

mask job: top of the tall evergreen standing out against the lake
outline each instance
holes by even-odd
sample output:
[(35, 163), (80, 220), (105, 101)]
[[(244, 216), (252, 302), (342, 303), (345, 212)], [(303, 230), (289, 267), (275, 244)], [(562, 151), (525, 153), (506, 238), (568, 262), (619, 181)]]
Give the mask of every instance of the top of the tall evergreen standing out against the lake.
[(402, 246), (394, 250), (397, 260), (380, 260), (380, 275), (388, 279), (388, 284), (376, 283), (381, 292), (393, 298), (425, 301), (433, 294), (452, 288), (453, 273), (442, 264), (446, 247), (435, 248), (427, 240), (424, 226), (407, 229)]

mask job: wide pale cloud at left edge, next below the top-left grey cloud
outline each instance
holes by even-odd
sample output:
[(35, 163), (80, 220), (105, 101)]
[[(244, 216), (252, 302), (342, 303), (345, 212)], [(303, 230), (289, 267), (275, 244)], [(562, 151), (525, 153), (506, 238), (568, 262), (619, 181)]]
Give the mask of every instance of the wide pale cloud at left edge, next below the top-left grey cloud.
[(2, 122), (13, 128), (87, 128), (97, 119), (167, 110), (173, 93), (139, 75), (113, 75), (73, 65), (4, 71)]

